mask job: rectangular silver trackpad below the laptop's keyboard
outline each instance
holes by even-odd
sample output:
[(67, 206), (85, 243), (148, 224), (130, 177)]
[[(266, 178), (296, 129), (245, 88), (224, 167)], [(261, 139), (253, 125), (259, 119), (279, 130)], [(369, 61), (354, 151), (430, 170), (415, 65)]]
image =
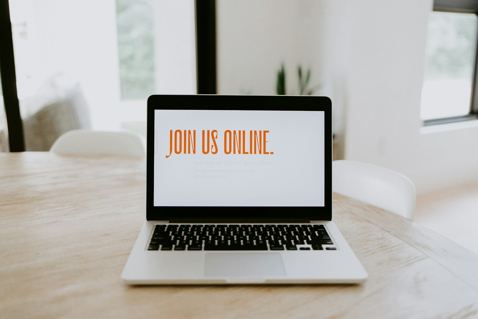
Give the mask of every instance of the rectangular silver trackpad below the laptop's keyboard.
[(280, 253), (206, 253), (206, 277), (285, 276)]

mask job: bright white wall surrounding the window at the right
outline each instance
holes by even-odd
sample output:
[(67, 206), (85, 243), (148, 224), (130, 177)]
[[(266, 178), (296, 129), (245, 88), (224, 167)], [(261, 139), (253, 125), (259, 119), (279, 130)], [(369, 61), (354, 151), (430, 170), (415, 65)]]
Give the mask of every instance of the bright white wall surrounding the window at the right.
[(399, 171), (418, 193), (477, 180), (477, 121), (422, 129), (419, 119), (432, 0), (343, 5), (353, 12), (346, 159)]

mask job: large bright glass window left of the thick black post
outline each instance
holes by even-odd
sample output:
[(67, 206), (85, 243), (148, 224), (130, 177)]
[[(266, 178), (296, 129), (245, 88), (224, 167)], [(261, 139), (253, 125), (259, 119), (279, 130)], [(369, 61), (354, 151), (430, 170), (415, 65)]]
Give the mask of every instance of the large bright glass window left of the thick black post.
[[(8, 2), (29, 151), (39, 150), (29, 144), (47, 140), (41, 150), (48, 150), (56, 138), (33, 130), (51, 125), (48, 117), (38, 124), (51, 105), (58, 110), (48, 114), (62, 129), (119, 130), (123, 122), (146, 121), (146, 99), (152, 94), (196, 94), (194, 0)], [(75, 102), (63, 102), (70, 97)], [(66, 125), (65, 113), (79, 114), (79, 108), (75, 125)]]

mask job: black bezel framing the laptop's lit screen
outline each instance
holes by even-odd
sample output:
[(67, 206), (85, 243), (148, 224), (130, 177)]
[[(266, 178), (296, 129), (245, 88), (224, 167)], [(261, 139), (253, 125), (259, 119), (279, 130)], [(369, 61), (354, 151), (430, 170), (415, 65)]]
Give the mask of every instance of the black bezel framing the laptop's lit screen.
[[(147, 105), (146, 219), (309, 219), (332, 220), (332, 103), (318, 96), (152, 95)], [(324, 207), (154, 206), (154, 110), (300, 110), (325, 112)], [(284, 208), (284, 209), (278, 209)], [(198, 215), (199, 209), (201, 210)], [(206, 213), (205, 213), (206, 212)]]

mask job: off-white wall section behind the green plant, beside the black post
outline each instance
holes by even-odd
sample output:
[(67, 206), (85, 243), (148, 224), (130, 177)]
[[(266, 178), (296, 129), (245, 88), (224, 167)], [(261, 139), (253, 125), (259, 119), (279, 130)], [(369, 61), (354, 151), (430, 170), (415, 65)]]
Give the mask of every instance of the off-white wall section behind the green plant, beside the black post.
[(217, 0), (217, 92), (275, 94), (281, 63), (287, 94), (298, 94), (297, 66), (323, 82), (325, 2)]

